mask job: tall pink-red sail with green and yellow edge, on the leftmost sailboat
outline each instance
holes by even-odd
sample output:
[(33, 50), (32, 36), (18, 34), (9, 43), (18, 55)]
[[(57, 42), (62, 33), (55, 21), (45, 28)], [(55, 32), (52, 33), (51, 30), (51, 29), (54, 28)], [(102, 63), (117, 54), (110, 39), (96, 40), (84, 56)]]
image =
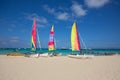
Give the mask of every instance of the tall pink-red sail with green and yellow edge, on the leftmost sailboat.
[(36, 18), (34, 18), (33, 27), (32, 27), (31, 48), (32, 51), (36, 50)]

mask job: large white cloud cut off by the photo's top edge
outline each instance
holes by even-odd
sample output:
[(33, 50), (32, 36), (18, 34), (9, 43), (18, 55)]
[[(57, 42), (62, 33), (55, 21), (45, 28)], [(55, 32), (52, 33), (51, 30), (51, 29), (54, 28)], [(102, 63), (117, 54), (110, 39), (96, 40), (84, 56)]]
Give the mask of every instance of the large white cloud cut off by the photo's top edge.
[(89, 8), (100, 8), (107, 4), (110, 0), (85, 0), (85, 4)]

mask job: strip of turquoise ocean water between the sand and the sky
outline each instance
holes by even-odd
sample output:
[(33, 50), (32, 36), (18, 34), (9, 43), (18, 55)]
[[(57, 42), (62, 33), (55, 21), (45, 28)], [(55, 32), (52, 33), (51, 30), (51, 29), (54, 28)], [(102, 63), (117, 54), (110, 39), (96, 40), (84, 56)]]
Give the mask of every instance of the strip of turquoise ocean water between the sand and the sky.
[[(30, 53), (30, 48), (0, 48), (0, 55), (11, 54), (11, 53)], [(49, 52), (48, 49), (37, 49), (36, 53), (43, 54)], [(81, 51), (71, 51), (70, 49), (56, 49), (54, 53), (58, 53), (62, 56), (68, 54), (92, 54), (92, 55), (111, 55), (111, 54), (120, 54), (120, 49), (82, 49)]]

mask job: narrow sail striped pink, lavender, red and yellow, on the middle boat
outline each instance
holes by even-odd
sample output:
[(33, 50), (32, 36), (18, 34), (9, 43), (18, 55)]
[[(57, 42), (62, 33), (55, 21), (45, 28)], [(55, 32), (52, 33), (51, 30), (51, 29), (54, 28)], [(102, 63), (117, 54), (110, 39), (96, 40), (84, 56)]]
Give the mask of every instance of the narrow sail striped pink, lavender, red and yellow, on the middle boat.
[(50, 37), (49, 37), (49, 42), (48, 42), (48, 49), (49, 51), (54, 50), (54, 25), (52, 25), (52, 29), (50, 31)]

